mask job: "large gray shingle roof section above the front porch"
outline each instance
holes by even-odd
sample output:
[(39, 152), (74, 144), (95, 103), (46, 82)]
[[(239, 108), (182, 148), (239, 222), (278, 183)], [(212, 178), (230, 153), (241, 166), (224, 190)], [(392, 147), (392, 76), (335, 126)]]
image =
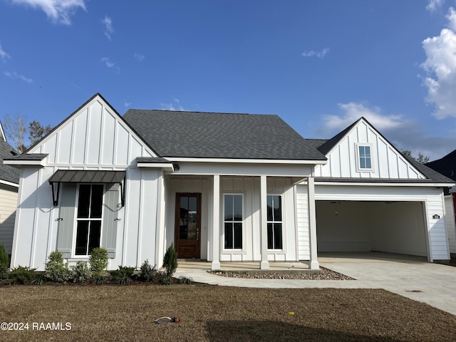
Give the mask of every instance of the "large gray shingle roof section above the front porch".
[(123, 118), (161, 157), (326, 160), (277, 115), (130, 109)]

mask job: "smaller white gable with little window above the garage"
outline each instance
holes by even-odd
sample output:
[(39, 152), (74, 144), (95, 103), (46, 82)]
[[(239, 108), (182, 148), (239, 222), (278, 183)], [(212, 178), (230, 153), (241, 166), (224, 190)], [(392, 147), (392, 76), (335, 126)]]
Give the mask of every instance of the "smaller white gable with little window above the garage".
[[(349, 129), (328, 140), (328, 164), (316, 165), (316, 177), (424, 180), (425, 175), (411, 164), (366, 119), (361, 118)], [(328, 147), (328, 143), (324, 144)], [(360, 166), (359, 147), (370, 150), (369, 166)], [(318, 147), (320, 149), (321, 147)]]

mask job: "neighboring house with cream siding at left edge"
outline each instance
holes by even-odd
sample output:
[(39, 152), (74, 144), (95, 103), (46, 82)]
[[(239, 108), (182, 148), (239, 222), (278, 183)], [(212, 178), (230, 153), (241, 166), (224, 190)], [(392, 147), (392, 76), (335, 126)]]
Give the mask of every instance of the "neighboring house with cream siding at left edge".
[(6, 136), (0, 123), (0, 243), (11, 254), (13, 244), (14, 218), (19, 190), (19, 170), (4, 165), (3, 160), (16, 155), (16, 151), (6, 142)]

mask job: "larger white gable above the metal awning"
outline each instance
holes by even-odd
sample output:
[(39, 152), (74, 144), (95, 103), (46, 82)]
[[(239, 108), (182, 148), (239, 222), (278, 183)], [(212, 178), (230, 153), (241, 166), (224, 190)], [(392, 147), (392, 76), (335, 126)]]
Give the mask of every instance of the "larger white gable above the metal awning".
[(96, 94), (33, 145), (27, 154), (47, 154), (47, 165), (130, 165), (136, 157), (155, 157), (115, 110)]

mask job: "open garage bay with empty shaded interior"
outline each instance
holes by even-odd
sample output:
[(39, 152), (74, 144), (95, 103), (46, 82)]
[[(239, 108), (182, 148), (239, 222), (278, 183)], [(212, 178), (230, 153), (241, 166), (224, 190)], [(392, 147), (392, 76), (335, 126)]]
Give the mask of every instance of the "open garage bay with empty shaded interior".
[(427, 257), (422, 202), (316, 201), (318, 252)]

